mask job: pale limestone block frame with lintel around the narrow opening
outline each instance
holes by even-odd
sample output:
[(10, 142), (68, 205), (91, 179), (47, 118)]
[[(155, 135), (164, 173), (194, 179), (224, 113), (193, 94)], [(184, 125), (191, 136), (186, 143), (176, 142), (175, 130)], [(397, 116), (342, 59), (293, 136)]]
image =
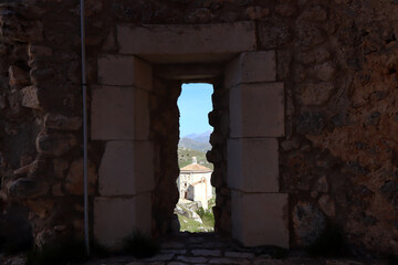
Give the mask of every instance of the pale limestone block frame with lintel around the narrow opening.
[(153, 211), (159, 209), (159, 163), (150, 102), (159, 80), (210, 78), (218, 81), (220, 105), (227, 106), (214, 121), (227, 125), (213, 158), (221, 161), (220, 176), (212, 177), (220, 191), (217, 222), (247, 246), (287, 247), (287, 194), (280, 193), (277, 153), (284, 87), (276, 82), (274, 52), (256, 51), (254, 24), (118, 25), (117, 41), (118, 54), (98, 59), (92, 94), (92, 139), (106, 141), (95, 239), (116, 247), (133, 230), (161, 234)]

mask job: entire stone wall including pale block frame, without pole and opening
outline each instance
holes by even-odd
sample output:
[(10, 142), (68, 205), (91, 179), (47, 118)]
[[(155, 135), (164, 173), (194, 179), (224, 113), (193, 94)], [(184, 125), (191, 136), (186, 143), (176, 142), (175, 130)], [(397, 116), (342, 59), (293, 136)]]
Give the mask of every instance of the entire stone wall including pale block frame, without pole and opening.
[[(296, 247), (338, 226), (353, 247), (398, 255), (397, 1), (88, 0), (85, 10), (92, 240), (175, 230), (177, 98), (182, 82), (206, 81), (218, 233), (255, 245), (264, 236), (248, 227), (276, 225), (271, 244)], [(80, 45), (78, 1), (1, 1), (0, 242), (83, 236)], [(114, 178), (128, 186), (106, 184)], [(134, 225), (108, 209), (128, 209)], [(109, 224), (121, 230), (95, 232)]]

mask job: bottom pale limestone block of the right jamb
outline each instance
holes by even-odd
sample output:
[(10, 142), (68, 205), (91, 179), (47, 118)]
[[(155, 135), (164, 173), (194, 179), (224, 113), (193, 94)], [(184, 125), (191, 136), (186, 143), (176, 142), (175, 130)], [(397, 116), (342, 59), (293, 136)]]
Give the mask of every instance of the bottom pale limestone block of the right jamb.
[(232, 191), (232, 236), (244, 246), (289, 247), (287, 194)]

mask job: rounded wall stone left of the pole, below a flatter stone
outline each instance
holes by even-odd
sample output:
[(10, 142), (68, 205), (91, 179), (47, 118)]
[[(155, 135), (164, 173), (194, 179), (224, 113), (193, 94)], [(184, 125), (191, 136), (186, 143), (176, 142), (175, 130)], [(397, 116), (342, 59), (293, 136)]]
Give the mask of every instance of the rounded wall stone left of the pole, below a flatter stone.
[(40, 132), (36, 137), (36, 150), (49, 156), (61, 157), (77, 145), (76, 137), (59, 132)]

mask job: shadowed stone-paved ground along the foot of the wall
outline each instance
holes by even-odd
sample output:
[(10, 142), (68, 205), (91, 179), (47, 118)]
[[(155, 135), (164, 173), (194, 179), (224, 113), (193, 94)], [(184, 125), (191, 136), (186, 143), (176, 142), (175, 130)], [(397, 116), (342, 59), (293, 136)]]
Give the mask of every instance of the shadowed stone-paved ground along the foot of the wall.
[[(1, 261), (1, 259), (0, 259)], [(2, 265), (23, 265), (24, 257), (1, 261)], [(252, 264), (252, 265), (368, 265), (395, 264), (371, 257), (310, 257), (305, 252), (284, 251), (275, 247), (242, 247), (230, 240), (216, 235), (181, 233), (163, 240), (161, 251), (154, 257), (136, 259), (116, 256), (92, 259), (83, 265), (182, 265), (182, 264)]]

